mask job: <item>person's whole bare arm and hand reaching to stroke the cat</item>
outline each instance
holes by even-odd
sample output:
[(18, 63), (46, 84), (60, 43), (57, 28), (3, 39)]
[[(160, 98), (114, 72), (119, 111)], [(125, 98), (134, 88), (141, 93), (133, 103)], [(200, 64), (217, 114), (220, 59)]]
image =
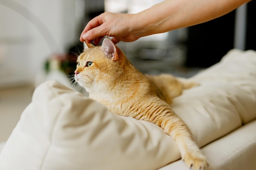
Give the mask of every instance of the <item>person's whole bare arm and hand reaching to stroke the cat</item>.
[(164, 33), (213, 20), (233, 11), (250, 0), (165, 0), (137, 14), (105, 12), (92, 19), (83, 30), (80, 41), (94, 43), (105, 36), (131, 42), (147, 35)]

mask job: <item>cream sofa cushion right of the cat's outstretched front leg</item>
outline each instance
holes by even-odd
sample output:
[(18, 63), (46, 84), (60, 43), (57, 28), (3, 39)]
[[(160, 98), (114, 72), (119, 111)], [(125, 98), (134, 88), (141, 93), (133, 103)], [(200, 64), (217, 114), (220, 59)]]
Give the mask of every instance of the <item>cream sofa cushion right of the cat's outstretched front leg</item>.
[(173, 110), (204, 146), (256, 118), (256, 52), (230, 50), (193, 76), (201, 85), (185, 90)]

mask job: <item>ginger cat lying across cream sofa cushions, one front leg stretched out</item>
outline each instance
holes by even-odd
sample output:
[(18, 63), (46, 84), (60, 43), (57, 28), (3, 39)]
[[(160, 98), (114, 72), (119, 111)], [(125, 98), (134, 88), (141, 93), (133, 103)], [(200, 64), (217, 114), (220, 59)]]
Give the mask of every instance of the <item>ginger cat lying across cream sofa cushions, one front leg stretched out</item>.
[(168, 74), (145, 76), (110, 39), (102, 46), (84, 43), (77, 59), (75, 80), (89, 97), (112, 113), (145, 120), (160, 126), (175, 140), (182, 159), (193, 170), (208, 168), (207, 159), (193, 141), (189, 128), (171, 109), (172, 98), (197, 83)]

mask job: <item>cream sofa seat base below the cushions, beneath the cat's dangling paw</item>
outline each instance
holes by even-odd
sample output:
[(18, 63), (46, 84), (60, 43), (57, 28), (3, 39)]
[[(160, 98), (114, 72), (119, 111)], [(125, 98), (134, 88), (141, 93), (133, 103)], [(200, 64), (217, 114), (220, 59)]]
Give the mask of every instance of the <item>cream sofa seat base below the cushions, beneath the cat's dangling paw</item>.
[[(256, 120), (202, 148), (211, 170), (255, 170)], [(182, 160), (159, 170), (188, 170)]]

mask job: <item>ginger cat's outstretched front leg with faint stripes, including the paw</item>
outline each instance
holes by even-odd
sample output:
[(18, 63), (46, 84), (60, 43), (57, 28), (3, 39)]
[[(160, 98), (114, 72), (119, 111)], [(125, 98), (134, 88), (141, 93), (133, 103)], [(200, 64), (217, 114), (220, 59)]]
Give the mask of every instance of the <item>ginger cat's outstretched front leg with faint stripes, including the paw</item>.
[(193, 170), (206, 170), (208, 168), (207, 159), (195, 144), (191, 131), (185, 122), (163, 101), (157, 98), (153, 100), (154, 102), (152, 103), (154, 105), (151, 103), (148, 107), (144, 107), (149, 109), (142, 113), (143, 116), (140, 113), (135, 118), (152, 122), (161, 127), (166, 134), (170, 135), (180, 150), (182, 160), (189, 168)]

